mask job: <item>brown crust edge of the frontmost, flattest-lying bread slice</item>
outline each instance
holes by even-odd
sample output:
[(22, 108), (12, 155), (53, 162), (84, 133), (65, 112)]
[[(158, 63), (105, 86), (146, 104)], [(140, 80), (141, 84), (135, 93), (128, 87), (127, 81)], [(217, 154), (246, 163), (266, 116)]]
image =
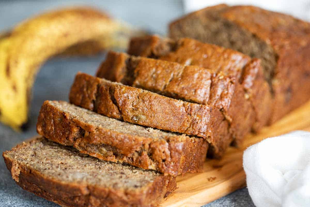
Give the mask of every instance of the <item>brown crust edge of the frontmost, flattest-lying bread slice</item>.
[[(38, 139), (42, 139), (38, 138)], [(37, 142), (35, 139), (30, 142)], [(18, 145), (22, 147), (27, 143)], [(14, 150), (13, 148), (12, 150)], [(19, 163), (3, 152), (2, 156), (7, 169), (12, 173), (16, 184), (26, 191), (50, 200), (64, 207), (79, 206), (157, 206), (164, 196), (176, 189), (175, 177), (158, 176), (148, 186), (140, 190), (113, 189), (102, 186), (85, 185), (83, 183), (66, 183), (48, 177), (30, 165)], [(16, 174), (14, 166), (19, 172)], [(12, 170), (13, 169), (13, 170)], [(15, 174), (14, 174), (15, 173)], [(17, 177), (18, 179), (15, 179)]]

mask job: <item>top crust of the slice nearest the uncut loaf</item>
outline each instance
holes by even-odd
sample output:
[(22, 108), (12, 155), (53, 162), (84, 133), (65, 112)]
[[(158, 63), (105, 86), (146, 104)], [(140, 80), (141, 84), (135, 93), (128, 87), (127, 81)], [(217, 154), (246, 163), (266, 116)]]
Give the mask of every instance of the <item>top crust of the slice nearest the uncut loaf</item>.
[(183, 65), (212, 69), (216, 73), (238, 74), (251, 61), (241, 52), (218, 45), (199, 42), (192, 38), (160, 38), (158, 35), (131, 38), (129, 55), (149, 57)]

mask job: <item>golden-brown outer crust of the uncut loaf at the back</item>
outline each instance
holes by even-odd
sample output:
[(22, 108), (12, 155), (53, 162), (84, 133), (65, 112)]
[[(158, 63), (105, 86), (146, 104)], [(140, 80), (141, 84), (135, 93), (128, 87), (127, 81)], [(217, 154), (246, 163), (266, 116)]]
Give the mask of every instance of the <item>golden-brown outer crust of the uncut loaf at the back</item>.
[(170, 37), (180, 38), (178, 28), (185, 25), (185, 21), (203, 21), (210, 12), (217, 12), (218, 19), (237, 25), (241, 30), (267, 44), (274, 52), (276, 65), (270, 80), (274, 98), (269, 124), (309, 100), (310, 24), (308, 22), (254, 6), (218, 5), (206, 7), (171, 22)]

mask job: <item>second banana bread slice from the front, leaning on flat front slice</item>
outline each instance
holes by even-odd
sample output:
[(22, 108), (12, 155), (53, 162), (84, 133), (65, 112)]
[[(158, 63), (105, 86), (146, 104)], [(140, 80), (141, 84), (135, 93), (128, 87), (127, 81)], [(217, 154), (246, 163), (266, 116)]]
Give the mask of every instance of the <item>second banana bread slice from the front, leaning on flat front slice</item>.
[(130, 124), (65, 101), (43, 103), (37, 131), (102, 160), (173, 176), (201, 169), (208, 149), (203, 138)]

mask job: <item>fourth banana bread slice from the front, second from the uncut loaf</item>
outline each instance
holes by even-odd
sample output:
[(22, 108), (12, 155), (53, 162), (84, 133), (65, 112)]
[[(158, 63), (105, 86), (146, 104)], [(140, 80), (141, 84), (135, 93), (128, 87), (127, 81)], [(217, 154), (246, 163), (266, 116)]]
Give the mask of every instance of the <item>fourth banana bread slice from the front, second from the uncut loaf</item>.
[(216, 69), (110, 51), (97, 76), (167, 97), (214, 106), (228, 120), (231, 140), (240, 146), (254, 125), (255, 113), (238, 81), (241, 69), (226, 68), (226, 71), (217, 72)]

